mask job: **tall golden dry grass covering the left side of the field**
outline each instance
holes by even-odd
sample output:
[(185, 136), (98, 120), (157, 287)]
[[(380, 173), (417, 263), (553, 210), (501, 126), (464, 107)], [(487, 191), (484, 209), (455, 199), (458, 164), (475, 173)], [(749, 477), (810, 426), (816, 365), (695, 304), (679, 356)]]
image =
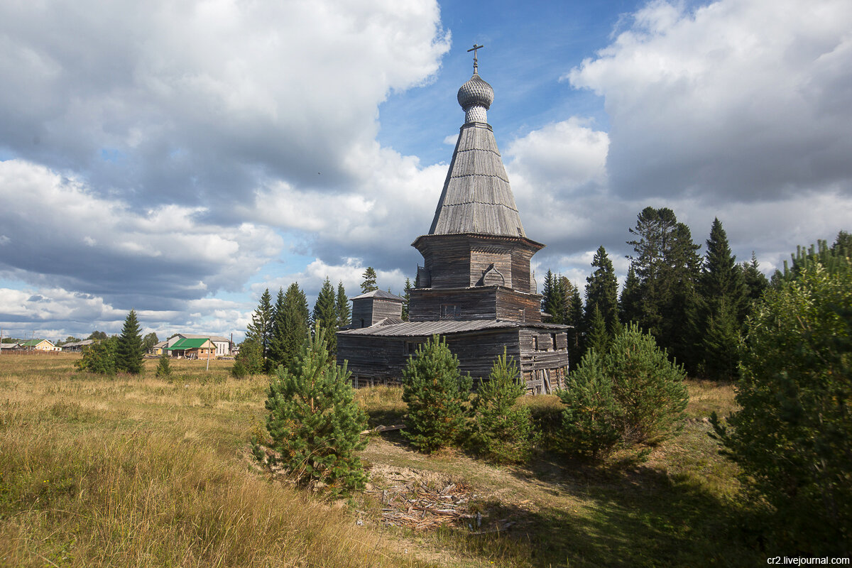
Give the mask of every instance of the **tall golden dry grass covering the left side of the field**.
[(178, 378), (0, 359), (0, 565), (424, 565), (345, 508), (243, 457), (266, 379), (176, 362)]

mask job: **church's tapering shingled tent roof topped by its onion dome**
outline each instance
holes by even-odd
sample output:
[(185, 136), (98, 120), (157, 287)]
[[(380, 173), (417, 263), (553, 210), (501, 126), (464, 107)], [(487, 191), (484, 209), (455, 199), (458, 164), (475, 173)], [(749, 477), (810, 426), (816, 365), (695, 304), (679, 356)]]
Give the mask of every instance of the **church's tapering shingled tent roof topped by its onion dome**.
[(494, 132), (486, 122), (486, 111), (493, 100), (494, 89), (474, 66), (473, 77), (458, 89), (464, 124), (452, 152), (430, 235), (476, 233), (526, 237)]

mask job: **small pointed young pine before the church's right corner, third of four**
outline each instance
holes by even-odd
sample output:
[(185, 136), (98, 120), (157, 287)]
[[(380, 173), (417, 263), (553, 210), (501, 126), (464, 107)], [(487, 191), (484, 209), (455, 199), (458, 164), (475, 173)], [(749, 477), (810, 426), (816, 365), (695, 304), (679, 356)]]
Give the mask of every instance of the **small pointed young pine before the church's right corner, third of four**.
[(471, 444), (493, 462), (521, 463), (529, 459), (533, 449), (530, 409), (515, 404), (526, 390), (515, 360), (507, 361), (504, 348), (473, 404)]

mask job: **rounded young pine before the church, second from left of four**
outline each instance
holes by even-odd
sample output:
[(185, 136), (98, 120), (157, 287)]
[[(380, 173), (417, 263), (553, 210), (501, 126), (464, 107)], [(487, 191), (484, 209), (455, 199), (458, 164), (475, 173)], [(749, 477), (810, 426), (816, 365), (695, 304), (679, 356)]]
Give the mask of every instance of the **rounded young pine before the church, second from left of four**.
[(402, 371), (402, 400), (408, 405), (402, 435), (427, 453), (455, 444), (472, 386), (473, 380), (462, 376), (458, 358), (439, 336), (417, 347)]

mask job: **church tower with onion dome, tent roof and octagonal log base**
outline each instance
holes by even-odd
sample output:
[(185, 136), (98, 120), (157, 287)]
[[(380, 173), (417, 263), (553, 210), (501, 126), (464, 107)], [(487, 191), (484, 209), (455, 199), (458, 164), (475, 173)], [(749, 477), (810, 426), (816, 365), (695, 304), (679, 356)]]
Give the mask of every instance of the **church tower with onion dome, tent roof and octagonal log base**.
[[(475, 45), (475, 49), (481, 49)], [(429, 233), (409, 318), (541, 321), (530, 259), (544, 244), (527, 238), (486, 112), (494, 89), (474, 75), (458, 89), (464, 111), (452, 163)], [(453, 290), (453, 291), (451, 291)]]

